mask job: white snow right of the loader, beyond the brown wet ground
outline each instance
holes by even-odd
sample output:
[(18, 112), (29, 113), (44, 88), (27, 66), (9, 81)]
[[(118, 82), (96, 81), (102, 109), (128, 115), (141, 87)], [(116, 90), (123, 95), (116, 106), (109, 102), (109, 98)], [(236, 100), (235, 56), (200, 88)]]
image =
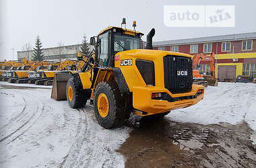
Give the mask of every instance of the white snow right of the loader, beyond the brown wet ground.
[[(219, 83), (205, 87), (202, 101), (189, 108), (174, 110), (167, 116), (179, 122), (237, 124), (245, 120), (256, 134), (256, 84)], [(256, 142), (256, 137), (254, 135)]]

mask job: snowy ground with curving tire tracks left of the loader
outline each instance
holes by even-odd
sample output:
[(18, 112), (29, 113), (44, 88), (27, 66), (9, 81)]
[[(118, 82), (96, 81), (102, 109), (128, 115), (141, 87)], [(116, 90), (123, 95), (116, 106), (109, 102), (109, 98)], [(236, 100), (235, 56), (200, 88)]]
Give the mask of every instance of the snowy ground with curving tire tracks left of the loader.
[(50, 95), (0, 88), (0, 167), (124, 167), (115, 150), (129, 128), (105, 130), (91, 106), (73, 110)]

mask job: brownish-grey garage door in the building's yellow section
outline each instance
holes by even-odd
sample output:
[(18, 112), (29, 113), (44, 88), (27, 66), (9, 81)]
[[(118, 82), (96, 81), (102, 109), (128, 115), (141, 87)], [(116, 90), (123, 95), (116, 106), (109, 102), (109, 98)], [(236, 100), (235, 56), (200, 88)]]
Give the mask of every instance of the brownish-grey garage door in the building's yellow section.
[(218, 66), (218, 79), (222, 82), (236, 81), (236, 66)]

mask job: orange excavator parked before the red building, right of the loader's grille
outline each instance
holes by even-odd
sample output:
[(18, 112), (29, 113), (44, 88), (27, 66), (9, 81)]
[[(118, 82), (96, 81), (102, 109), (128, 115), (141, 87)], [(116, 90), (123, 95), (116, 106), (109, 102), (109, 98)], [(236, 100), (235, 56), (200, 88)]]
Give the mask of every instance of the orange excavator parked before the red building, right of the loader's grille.
[[(203, 74), (200, 77), (198, 67), (200, 62), (206, 62), (210, 65), (210, 75)], [(215, 79), (215, 55), (214, 52), (210, 56), (206, 54), (195, 54), (193, 56), (193, 76), (195, 75), (194, 83), (201, 85), (218, 86), (218, 80)], [(202, 78), (203, 77), (203, 78)]]

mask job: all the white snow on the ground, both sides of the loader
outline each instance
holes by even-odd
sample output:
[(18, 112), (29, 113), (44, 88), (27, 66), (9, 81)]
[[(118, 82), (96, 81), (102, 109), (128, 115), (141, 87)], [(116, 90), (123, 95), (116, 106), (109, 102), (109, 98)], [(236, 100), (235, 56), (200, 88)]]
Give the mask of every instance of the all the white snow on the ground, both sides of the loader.
[[(73, 110), (67, 101), (51, 99), (49, 87), (3, 85), (17, 84), (0, 82), (0, 167), (124, 167), (115, 150), (131, 128), (101, 128), (91, 106)], [(205, 88), (205, 98), (195, 106), (174, 110), (167, 118), (201, 124), (245, 120), (256, 132), (255, 95), (253, 83), (219, 83)]]

